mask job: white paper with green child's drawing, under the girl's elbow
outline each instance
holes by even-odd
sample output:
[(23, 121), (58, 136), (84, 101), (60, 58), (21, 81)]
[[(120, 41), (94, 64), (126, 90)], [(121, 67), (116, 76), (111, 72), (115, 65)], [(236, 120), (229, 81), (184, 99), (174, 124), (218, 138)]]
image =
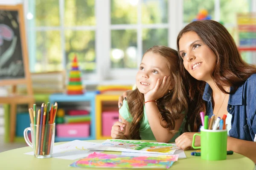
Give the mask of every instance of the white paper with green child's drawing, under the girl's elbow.
[(172, 150), (165, 150), (163, 152), (157, 152), (159, 154), (174, 154), (175, 150), (179, 149), (175, 144), (166, 144), (160, 142), (145, 142), (134, 140), (121, 140), (121, 139), (108, 139), (104, 141), (98, 147), (88, 148), (88, 150), (106, 150), (106, 151), (118, 151), (118, 152), (135, 152), (135, 153), (156, 153), (149, 152), (147, 149), (172, 147)]

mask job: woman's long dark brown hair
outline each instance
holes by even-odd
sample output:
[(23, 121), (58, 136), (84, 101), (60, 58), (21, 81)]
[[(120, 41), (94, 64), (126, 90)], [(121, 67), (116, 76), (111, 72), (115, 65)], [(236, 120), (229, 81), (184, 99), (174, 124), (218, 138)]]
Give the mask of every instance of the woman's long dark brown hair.
[[(180, 31), (177, 37), (178, 51), (180, 38), (186, 32), (197, 33), (201, 40), (214, 52), (217, 61), (211, 77), (221, 92), (233, 94), (250, 75), (256, 73), (255, 66), (243, 61), (233, 37), (221, 23), (214, 20), (200, 20), (189, 23)], [(188, 121), (186, 121), (185, 130), (198, 132), (201, 124), (200, 112), (206, 111), (206, 104), (203, 100), (206, 83), (193, 78), (184, 69), (182, 62), (180, 57), (181, 74), (183, 79), (186, 80), (186, 89), (189, 93)], [(233, 86), (234, 89), (227, 92), (224, 86)]]

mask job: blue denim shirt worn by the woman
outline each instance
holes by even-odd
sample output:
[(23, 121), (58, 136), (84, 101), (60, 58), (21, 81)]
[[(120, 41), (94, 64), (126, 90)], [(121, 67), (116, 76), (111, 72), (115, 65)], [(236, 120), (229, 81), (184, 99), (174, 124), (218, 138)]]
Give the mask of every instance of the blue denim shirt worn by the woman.
[[(230, 87), (230, 91), (233, 87)], [(212, 89), (209, 84), (204, 88), (206, 115), (213, 114)], [(232, 115), (230, 137), (253, 141), (256, 134), (256, 74), (251, 75), (234, 94), (230, 94), (227, 112)]]

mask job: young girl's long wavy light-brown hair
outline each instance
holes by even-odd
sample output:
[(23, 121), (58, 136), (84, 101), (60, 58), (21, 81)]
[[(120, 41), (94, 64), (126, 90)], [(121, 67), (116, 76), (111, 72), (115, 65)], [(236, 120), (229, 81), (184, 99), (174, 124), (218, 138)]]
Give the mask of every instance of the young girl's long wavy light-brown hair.
[[(175, 121), (184, 117), (181, 112), (187, 109), (186, 90), (180, 75), (179, 57), (176, 50), (167, 46), (153, 46), (147, 52), (152, 52), (163, 57), (171, 74), (173, 89), (157, 100), (157, 107), (161, 114), (161, 120), (166, 124), (162, 127), (170, 133), (175, 133)], [(144, 55), (145, 55), (144, 54)], [(131, 139), (140, 139), (140, 121), (143, 119), (144, 94), (137, 88), (128, 96), (128, 107), (132, 116), (130, 135)], [(160, 123), (160, 122), (159, 122)], [(161, 132), (159, 132), (161, 133)]]

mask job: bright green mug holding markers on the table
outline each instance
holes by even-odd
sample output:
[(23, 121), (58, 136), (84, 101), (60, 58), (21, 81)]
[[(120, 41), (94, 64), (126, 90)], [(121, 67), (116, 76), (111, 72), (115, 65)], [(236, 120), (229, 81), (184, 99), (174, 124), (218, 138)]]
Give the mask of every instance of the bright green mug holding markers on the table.
[[(201, 136), (201, 147), (195, 147), (195, 136)], [(208, 161), (225, 160), (227, 158), (227, 130), (206, 130), (193, 135), (192, 147), (201, 149), (201, 159)]]

